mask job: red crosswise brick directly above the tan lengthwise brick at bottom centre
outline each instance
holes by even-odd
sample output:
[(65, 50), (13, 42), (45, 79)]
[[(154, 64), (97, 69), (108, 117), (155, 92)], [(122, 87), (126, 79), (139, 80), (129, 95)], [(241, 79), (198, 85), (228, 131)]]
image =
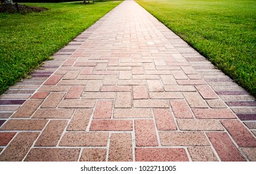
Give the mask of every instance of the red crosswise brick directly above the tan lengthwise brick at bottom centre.
[(90, 131), (132, 131), (132, 120), (93, 119)]

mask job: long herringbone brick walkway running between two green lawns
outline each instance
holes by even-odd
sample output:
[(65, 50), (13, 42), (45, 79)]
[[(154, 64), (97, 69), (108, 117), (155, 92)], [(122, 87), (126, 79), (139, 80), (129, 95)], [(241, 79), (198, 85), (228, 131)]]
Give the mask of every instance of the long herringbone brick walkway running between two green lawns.
[(134, 1), (0, 97), (1, 161), (255, 161), (256, 102)]

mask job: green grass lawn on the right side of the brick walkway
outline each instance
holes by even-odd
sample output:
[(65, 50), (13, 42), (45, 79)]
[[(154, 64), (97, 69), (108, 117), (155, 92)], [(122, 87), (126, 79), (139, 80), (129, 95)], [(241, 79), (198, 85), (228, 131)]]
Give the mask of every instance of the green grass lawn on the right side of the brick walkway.
[(136, 0), (256, 96), (255, 0)]

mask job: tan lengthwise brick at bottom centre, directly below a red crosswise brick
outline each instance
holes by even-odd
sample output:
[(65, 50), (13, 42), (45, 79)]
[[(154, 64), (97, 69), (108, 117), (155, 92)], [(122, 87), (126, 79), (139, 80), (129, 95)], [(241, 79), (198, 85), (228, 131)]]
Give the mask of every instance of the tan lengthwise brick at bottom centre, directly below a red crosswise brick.
[(112, 134), (109, 146), (109, 162), (132, 162), (132, 135)]

